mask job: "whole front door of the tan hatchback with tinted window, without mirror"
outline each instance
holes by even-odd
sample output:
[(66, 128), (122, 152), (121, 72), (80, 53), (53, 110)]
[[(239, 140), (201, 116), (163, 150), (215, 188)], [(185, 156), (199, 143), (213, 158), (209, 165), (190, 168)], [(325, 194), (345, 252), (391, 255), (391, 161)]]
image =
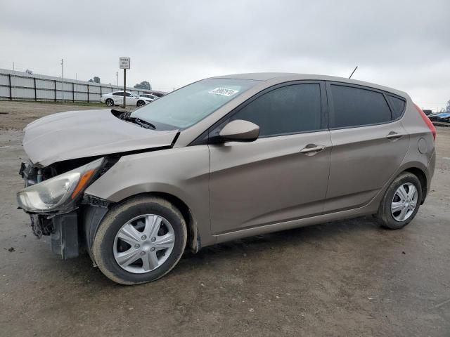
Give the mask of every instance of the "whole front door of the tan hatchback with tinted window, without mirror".
[(260, 133), (251, 143), (210, 145), (212, 232), (321, 213), (331, 145), (324, 83), (269, 88), (232, 112), (210, 134), (233, 119), (252, 121)]

